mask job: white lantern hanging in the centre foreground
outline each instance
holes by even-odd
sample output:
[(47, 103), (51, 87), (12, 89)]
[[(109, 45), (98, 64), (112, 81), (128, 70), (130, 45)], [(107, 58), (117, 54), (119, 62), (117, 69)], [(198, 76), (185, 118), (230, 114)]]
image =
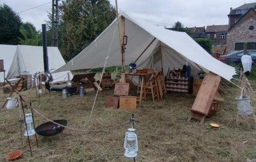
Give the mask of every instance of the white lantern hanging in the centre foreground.
[(132, 158), (137, 156), (138, 152), (138, 140), (137, 135), (135, 134), (134, 128), (129, 128), (125, 133), (124, 144), (125, 149), (124, 156)]

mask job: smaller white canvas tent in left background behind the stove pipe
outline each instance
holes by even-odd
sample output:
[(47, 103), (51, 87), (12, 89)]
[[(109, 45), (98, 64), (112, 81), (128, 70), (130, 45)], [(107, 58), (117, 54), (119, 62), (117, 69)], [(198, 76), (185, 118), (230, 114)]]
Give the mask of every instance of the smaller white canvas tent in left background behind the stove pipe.
[[(31, 45), (0, 45), (0, 59), (4, 60), (5, 69), (7, 71), (6, 78), (13, 79), (21, 73), (34, 75), (37, 72), (44, 72), (44, 59), (42, 47)], [(48, 47), (49, 70), (56, 70), (65, 65), (57, 47)], [(67, 80), (67, 73), (70, 71), (54, 73), (53, 82), (61, 82)], [(73, 78), (70, 73), (71, 79)], [(1, 76), (3, 81), (3, 76)]]

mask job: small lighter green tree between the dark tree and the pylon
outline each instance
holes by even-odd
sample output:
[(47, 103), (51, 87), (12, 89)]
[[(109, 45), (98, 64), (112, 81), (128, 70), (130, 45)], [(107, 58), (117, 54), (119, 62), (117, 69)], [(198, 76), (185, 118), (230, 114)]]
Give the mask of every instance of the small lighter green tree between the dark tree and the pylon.
[(39, 42), (41, 42), (40, 39), (42, 37), (40, 36), (40, 33), (38, 33), (35, 29), (35, 27), (30, 23), (26, 22), (23, 24), (19, 32), (22, 34), (22, 38), (18, 37), (19, 42), (23, 45), (40, 45)]

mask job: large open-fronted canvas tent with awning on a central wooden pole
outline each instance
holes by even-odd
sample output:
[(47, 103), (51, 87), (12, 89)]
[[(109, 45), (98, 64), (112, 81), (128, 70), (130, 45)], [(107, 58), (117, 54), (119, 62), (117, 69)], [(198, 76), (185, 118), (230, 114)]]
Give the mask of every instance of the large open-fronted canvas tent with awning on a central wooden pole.
[[(138, 58), (142, 51), (146, 49), (136, 62), (138, 68), (155, 67), (161, 69), (163, 67), (164, 74), (166, 74), (168, 67), (182, 68), (187, 61), (191, 66), (193, 76), (200, 71), (200, 68), (206, 72), (216, 73), (226, 80), (230, 80), (233, 75), (236, 75), (234, 67), (211, 57), (186, 33), (164, 29), (153, 21), (130, 13), (122, 12), (120, 19), (121, 16), (125, 18), (125, 35), (128, 37), (125, 64), (129, 64)], [(122, 27), (121, 22), (120, 20), (120, 27)], [(111, 45), (112, 37), (113, 44)], [(156, 38), (155, 41), (151, 43), (154, 38)], [(150, 43), (150, 47), (146, 48)], [(55, 72), (103, 67), (109, 49), (110, 55), (106, 66), (121, 65), (117, 19), (86, 49)]]

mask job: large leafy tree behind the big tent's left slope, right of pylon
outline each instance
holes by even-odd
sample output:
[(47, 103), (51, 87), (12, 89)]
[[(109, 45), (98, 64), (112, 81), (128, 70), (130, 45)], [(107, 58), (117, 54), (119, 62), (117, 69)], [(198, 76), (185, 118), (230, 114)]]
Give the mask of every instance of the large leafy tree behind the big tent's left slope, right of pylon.
[(107, 0), (66, 0), (60, 10), (61, 53), (65, 59), (87, 47), (115, 18), (115, 9)]

